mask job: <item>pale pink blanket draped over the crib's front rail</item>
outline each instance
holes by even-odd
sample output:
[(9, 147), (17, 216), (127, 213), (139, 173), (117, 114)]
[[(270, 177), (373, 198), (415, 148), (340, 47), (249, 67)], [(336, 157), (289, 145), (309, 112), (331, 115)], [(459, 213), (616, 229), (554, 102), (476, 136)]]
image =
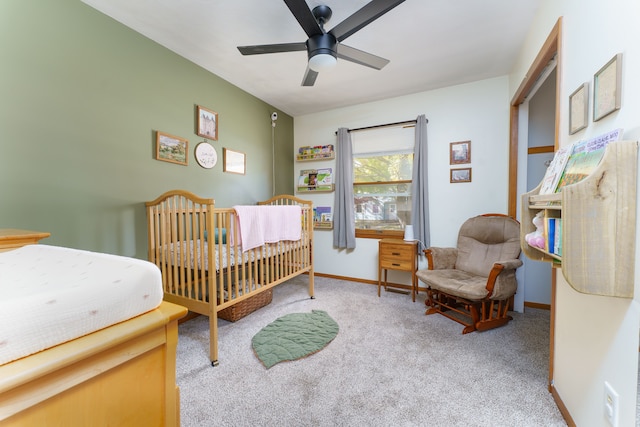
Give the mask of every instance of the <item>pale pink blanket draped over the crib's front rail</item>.
[[(289, 206), (234, 206), (242, 250), (248, 251), (283, 240), (300, 240), (302, 209)], [(234, 236), (232, 235), (233, 239)]]

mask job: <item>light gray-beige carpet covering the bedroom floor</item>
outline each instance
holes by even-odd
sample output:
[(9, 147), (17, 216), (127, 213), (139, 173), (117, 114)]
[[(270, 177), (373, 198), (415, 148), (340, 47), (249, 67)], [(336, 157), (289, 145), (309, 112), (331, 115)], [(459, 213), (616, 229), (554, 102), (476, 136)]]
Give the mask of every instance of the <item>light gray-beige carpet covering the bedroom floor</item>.
[[(208, 323), (180, 326), (183, 426), (565, 426), (547, 391), (549, 312), (514, 313), (503, 328), (462, 335), (424, 315), (424, 295), (307, 277), (274, 288), (273, 302), (220, 321), (220, 365), (208, 359)], [(331, 345), (266, 370), (251, 338), (278, 317), (325, 310), (340, 325)]]

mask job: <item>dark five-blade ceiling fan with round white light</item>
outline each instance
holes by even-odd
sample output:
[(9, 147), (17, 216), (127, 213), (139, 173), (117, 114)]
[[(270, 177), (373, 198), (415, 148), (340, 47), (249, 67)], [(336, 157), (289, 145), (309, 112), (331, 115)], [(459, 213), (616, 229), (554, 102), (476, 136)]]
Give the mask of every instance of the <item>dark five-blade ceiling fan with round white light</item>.
[(302, 79), (302, 86), (313, 86), (318, 77), (318, 72), (333, 67), (337, 62), (337, 58), (346, 59), (376, 70), (381, 70), (382, 67), (389, 63), (388, 59), (345, 46), (341, 42), (389, 12), (404, 0), (372, 0), (333, 27), (329, 32), (324, 29), (324, 24), (329, 21), (332, 14), (329, 6), (320, 5), (310, 10), (305, 0), (284, 0), (284, 2), (298, 20), (304, 32), (307, 33), (309, 39), (299, 43), (238, 46), (240, 53), (243, 55), (260, 55), (306, 50), (309, 62), (307, 71)]

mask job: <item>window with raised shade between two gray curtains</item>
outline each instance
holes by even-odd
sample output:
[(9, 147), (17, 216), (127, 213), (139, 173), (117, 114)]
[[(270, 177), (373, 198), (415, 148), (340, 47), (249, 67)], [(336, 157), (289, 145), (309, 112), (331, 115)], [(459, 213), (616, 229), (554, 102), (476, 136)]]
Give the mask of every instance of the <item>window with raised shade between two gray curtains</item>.
[(414, 127), (351, 135), (357, 237), (402, 236), (411, 224)]

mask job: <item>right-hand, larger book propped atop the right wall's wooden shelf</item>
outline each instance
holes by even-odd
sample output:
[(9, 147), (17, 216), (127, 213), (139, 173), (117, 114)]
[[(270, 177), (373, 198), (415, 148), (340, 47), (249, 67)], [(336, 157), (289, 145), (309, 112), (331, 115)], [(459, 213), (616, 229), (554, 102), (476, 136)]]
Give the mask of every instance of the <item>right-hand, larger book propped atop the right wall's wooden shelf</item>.
[(621, 137), (622, 129), (616, 129), (574, 144), (555, 192), (560, 192), (563, 187), (580, 182), (590, 175), (600, 164), (607, 145), (619, 141)]

